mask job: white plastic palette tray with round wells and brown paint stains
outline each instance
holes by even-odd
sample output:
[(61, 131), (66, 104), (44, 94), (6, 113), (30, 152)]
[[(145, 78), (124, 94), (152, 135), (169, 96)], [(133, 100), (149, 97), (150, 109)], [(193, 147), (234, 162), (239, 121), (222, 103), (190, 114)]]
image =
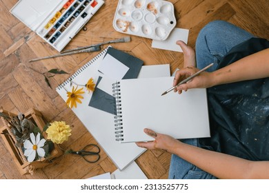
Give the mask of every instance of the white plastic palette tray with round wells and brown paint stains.
[(119, 0), (113, 27), (118, 32), (165, 40), (176, 26), (174, 6), (161, 0)]

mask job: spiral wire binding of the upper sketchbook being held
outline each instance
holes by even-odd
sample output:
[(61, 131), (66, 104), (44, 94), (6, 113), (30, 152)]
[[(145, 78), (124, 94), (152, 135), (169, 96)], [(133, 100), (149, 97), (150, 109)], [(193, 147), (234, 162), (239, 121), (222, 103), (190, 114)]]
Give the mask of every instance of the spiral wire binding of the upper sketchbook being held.
[(112, 84), (113, 96), (116, 99), (115, 104), (115, 115), (114, 126), (115, 126), (115, 137), (116, 141), (123, 141), (123, 127), (122, 127), (122, 112), (121, 112), (121, 85), (120, 82)]

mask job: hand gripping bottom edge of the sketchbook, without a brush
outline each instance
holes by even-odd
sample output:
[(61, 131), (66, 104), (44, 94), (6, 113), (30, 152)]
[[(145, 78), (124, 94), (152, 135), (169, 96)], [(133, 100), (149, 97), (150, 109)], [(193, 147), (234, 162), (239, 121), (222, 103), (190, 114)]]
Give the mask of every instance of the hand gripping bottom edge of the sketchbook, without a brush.
[(172, 138), (172, 136), (166, 134), (159, 134), (150, 129), (144, 129), (144, 132), (148, 134), (148, 136), (152, 136), (155, 141), (137, 142), (137, 146), (139, 146), (140, 148), (147, 148), (149, 150), (159, 149), (174, 153), (177, 145), (181, 143), (177, 139)]

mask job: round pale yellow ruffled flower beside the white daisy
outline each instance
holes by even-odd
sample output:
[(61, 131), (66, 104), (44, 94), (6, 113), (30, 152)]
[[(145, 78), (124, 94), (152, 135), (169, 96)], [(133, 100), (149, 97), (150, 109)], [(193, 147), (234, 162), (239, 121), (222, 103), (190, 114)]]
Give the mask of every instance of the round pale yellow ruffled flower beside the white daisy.
[(66, 122), (54, 121), (50, 123), (46, 133), (48, 134), (48, 139), (53, 143), (61, 144), (63, 141), (68, 141), (71, 131), (70, 125), (66, 125)]

